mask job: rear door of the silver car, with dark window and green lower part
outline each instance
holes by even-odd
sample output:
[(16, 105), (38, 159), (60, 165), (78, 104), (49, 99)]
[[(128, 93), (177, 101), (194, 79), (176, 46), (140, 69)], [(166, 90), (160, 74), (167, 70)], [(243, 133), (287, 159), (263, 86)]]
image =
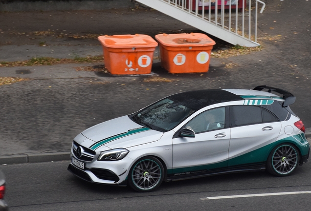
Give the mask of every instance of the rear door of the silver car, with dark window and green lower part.
[(234, 105), (230, 106), (230, 128), (228, 166), (260, 165), (280, 134), (281, 122), (265, 108)]

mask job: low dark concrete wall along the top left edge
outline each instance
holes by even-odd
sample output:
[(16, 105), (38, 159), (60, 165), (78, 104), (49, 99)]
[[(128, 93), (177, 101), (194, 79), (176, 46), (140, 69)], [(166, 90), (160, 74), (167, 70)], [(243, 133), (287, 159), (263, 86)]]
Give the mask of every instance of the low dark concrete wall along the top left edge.
[(135, 7), (132, 0), (0, 0), (0, 11), (104, 10)]

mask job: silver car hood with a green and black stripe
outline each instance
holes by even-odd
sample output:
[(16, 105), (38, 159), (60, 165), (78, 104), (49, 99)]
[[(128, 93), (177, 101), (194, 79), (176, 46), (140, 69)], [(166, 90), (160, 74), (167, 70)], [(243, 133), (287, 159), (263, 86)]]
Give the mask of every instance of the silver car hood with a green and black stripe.
[(82, 132), (94, 141), (89, 148), (96, 151), (109, 148), (130, 148), (157, 141), (163, 132), (134, 123), (128, 116), (119, 117), (90, 127)]

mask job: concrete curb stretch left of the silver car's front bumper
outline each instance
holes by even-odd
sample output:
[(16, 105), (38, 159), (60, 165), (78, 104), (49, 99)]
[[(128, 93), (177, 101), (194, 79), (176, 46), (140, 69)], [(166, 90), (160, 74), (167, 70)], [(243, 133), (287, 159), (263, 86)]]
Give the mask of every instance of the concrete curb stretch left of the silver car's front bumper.
[(0, 156), (0, 165), (41, 163), (70, 160), (70, 152), (31, 153), (21, 155)]

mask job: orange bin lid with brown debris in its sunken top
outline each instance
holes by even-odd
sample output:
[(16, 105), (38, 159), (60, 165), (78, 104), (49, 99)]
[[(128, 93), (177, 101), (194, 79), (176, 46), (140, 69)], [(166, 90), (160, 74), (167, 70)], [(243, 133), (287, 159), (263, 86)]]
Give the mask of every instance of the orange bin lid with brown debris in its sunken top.
[(155, 39), (161, 44), (171, 47), (210, 46), (216, 44), (207, 35), (201, 33), (158, 34), (155, 35)]

